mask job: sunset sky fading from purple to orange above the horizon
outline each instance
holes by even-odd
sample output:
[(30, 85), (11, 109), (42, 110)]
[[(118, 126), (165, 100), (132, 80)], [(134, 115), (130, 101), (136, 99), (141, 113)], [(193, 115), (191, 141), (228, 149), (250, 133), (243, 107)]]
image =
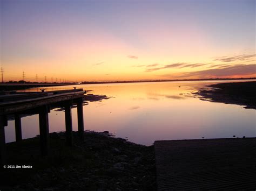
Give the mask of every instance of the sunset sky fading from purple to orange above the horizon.
[(4, 80), (256, 77), (254, 0), (0, 0)]

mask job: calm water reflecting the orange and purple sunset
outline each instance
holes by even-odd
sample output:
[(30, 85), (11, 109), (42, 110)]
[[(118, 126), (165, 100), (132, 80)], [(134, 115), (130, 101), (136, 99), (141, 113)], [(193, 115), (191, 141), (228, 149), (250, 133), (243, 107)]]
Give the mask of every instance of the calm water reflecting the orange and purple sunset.
[[(127, 137), (144, 145), (164, 139), (255, 137), (255, 110), (202, 101), (191, 94), (213, 83), (220, 81), (93, 84), (77, 88), (111, 97), (84, 105), (86, 130), (107, 130), (116, 137)], [(73, 86), (46, 89), (73, 89)], [(49, 114), (50, 132), (65, 130), (64, 112), (56, 110)], [(72, 119), (73, 130), (77, 131), (76, 108), (72, 109)], [(38, 135), (38, 123), (38, 115), (22, 118), (23, 138)], [(6, 142), (15, 140), (14, 121), (8, 122), (5, 133)]]

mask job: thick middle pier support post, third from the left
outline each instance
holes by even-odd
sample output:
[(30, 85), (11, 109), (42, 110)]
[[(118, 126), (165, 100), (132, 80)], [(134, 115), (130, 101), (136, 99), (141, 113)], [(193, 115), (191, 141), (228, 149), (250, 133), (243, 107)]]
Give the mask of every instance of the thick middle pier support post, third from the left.
[(49, 151), (49, 119), (47, 105), (39, 108), (39, 129), (41, 155), (44, 157), (48, 155)]

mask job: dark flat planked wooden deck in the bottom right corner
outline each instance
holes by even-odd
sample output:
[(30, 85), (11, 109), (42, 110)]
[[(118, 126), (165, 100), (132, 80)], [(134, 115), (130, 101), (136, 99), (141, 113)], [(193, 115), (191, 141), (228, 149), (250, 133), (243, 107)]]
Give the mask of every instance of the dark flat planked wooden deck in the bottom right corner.
[(158, 190), (255, 190), (256, 138), (155, 142)]

